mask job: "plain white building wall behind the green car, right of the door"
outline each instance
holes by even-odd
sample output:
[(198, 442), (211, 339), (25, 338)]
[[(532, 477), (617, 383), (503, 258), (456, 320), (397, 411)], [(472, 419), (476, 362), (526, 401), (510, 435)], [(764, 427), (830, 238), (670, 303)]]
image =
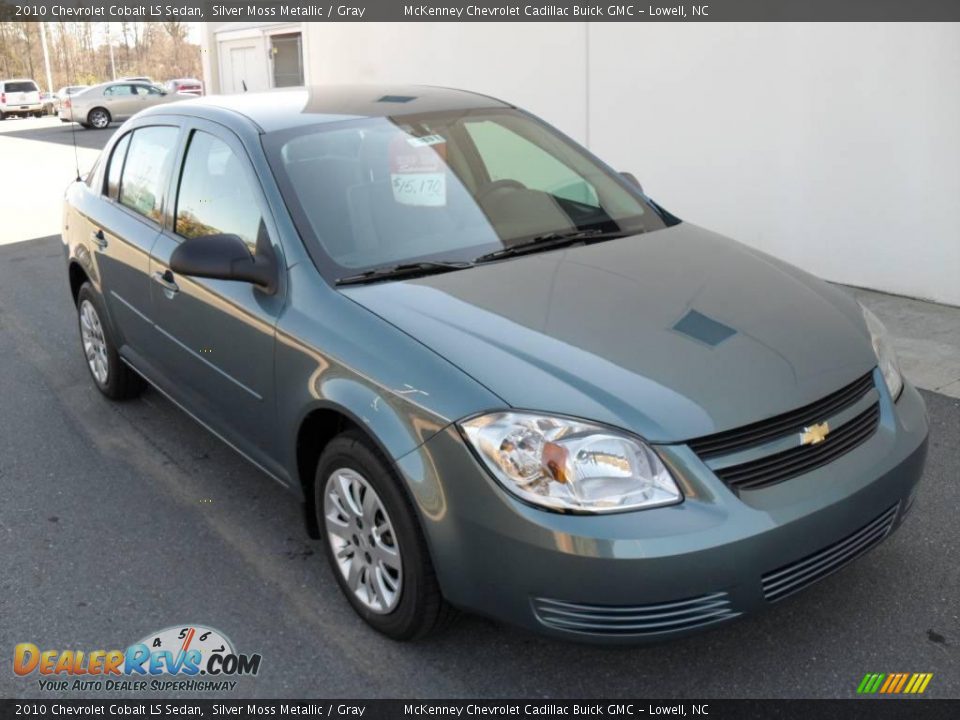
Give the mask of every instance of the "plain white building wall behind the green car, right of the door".
[(960, 305), (960, 24), (307, 23), (314, 82), (516, 102), (822, 277)]

